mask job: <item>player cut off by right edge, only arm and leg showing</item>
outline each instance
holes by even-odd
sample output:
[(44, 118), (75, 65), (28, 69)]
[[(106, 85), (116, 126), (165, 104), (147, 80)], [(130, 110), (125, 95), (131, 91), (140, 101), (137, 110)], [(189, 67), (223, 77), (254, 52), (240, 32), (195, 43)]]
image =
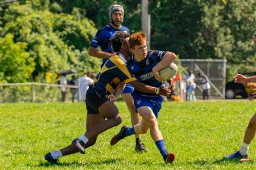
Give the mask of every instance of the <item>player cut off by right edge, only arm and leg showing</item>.
[[(254, 44), (256, 45), (256, 29), (254, 30), (253, 41), (254, 41)], [(250, 82), (256, 83), (256, 75), (246, 77), (242, 74), (236, 74), (234, 76), (234, 80), (237, 83), (243, 83), (243, 84), (250, 83)], [(256, 90), (256, 88), (254, 90)], [(256, 92), (253, 93), (253, 96), (256, 97)], [(242, 143), (240, 150), (234, 152), (233, 154), (225, 155), (224, 158), (249, 160), (249, 159), (247, 159), (249, 145), (250, 145), (251, 141), (253, 140), (255, 133), (256, 133), (256, 112), (254, 113), (254, 116), (251, 117), (251, 120), (246, 128), (245, 136), (243, 137), (243, 143)]]

